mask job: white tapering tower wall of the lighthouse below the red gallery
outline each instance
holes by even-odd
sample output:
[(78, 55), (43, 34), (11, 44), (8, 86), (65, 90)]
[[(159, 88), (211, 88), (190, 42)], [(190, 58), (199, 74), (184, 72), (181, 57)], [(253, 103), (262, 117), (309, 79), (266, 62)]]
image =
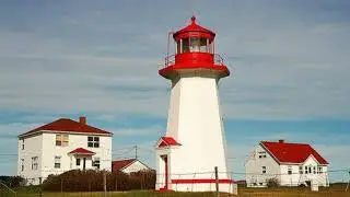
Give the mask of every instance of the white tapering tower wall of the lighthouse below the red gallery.
[[(214, 74), (194, 72), (173, 82), (166, 136), (182, 146), (168, 152), (170, 179), (214, 178), (214, 166), (219, 178), (230, 178), (217, 82)], [(161, 163), (158, 173), (164, 174)]]

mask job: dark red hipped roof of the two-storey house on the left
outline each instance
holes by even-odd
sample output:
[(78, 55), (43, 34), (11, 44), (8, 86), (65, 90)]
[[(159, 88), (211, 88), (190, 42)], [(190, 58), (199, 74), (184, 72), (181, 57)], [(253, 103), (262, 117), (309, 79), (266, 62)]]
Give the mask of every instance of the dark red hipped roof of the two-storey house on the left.
[(21, 136), (27, 136), (36, 131), (61, 131), (61, 132), (82, 132), (82, 134), (94, 134), (94, 135), (112, 135), (112, 132), (92, 127), (86, 125), (84, 121), (79, 123), (69, 118), (60, 118), (42, 127), (35, 128), (27, 132), (24, 132)]

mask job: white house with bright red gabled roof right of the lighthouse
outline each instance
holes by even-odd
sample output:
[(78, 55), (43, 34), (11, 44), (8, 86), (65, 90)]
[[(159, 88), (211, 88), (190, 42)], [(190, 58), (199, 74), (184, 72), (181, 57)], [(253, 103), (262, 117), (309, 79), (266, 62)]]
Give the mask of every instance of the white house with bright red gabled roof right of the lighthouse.
[(329, 186), (328, 162), (310, 144), (261, 141), (245, 163), (248, 187), (266, 187), (269, 178), (282, 186)]

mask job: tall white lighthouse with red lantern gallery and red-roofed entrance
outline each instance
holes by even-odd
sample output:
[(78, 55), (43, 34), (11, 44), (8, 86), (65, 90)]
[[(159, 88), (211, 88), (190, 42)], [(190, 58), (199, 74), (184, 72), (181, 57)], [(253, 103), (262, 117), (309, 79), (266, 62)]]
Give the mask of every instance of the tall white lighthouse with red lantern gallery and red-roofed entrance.
[(155, 188), (212, 192), (218, 185), (220, 192), (234, 193), (218, 92), (219, 80), (230, 71), (214, 54), (215, 33), (192, 16), (172, 35), (175, 55), (159, 70), (172, 86), (166, 135), (155, 144)]

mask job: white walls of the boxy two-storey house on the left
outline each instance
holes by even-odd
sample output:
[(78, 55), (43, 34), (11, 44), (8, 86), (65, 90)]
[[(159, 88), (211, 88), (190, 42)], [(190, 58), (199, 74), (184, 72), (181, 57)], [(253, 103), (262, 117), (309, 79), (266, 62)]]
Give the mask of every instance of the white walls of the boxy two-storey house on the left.
[[(91, 135), (94, 136), (94, 135)], [(37, 178), (34, 184), (39, 184), (38, 178), (43, 181), (49, 174), (60, 174), (69, 170), (82, 169), (83, 160), (81, 160), (81, 165), (75, 165), (75, 157), (68, 154), (77, 148), (83, 148), (90, 151), (95, 152), (94, 155), (86, 157), (86, 169), (92, 167), (92, 160), (94, 158), (100, 158), (101, 166), (110, 171), (112, 167), (112, 137), (109, 136), (98, 136), (100, 137), (100, 148), (89, 148), (88, 147), (88, 136), (80, 134), (69, 134), (69, 144), (67, 147), (57, 147), (56, 146), (56, 134), (44, 132), (37, 137), (26, 137), (25, 150), (21, 150), (21, 142), (19, 140), (19, 175), (24, 178)], [(31, 170), (31, 157), (39, 154), (39, 170)], [(25, 157), (25, 171), (20, 172), (21, 170), (21, 159)], [(61, 166), (60, 169), (55, 169), (55, 157), (61, 157)], [(82, 158), (82, 157), (81, 157)]]

